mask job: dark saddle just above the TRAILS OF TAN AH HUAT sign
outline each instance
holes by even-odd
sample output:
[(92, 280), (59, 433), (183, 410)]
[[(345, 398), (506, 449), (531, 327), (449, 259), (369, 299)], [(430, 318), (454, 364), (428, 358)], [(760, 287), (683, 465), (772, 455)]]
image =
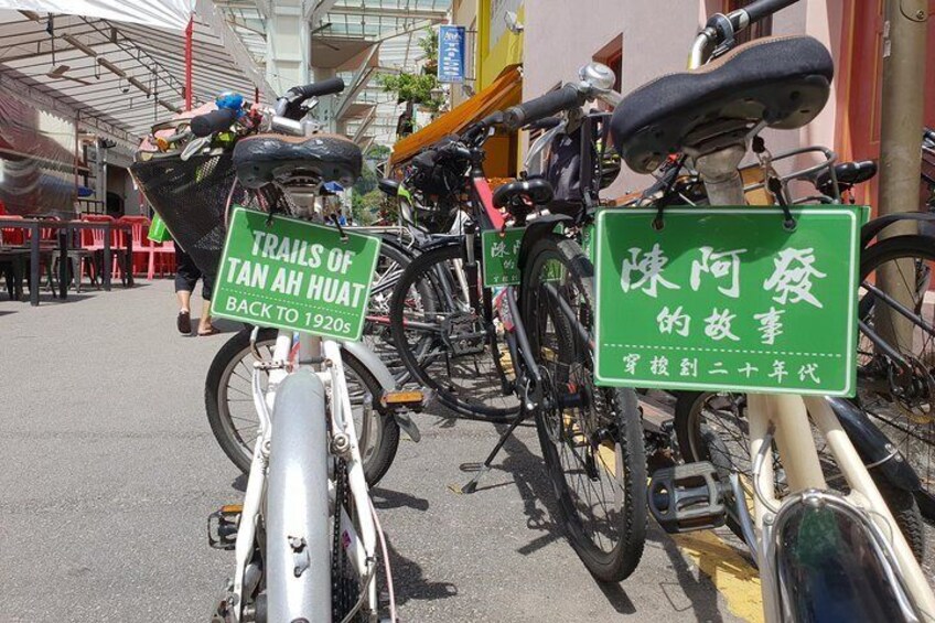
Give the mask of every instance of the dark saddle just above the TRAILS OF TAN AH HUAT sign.
[(256, 135), (234, 148), (237, 178), (248, 189), (297, 178), (351, 186), (361, 176), (363, 161), (361, 148), (337, 135)]

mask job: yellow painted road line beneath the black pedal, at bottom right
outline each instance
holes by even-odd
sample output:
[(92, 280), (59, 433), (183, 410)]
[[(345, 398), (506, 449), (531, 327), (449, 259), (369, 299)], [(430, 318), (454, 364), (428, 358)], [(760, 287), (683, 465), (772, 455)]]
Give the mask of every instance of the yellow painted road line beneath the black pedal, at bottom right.
[(712, 531), (671, 537), (681, 552), (711, 578), (714, 588), (724, 595), (731, 614), (751, 623), (764, 621), (763, 594), (760, 592), (760, 572), (756, 568)]

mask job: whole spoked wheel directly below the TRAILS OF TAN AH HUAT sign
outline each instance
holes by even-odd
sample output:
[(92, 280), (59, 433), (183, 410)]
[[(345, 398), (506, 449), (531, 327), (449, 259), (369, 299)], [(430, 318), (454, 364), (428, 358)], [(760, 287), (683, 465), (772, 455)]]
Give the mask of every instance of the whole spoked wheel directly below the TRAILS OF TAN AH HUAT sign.
[[(277, 331), (261, 329), (257, 350), (264, 358), (272, 358)], [(379, 397), (383, 387), (366, 366), (351, 353), (342, 353), (347, 389), (354, 411), (354, 426), (361, 438), (364, 472), (370, 485), (389, 470), (399, 445), (399, 425), (383, 412)], [(208, 369), (205, 380), (205, 409), (214, 438), (230, 461), (244, 473), (250, 469), (254, 445), (259, 432), (259, 419), (254, 407), (250, 378), (254, 372), (250, 332), (240, 331), (222, 346)], [(268, 373), (262, 373), (264, 390)]]

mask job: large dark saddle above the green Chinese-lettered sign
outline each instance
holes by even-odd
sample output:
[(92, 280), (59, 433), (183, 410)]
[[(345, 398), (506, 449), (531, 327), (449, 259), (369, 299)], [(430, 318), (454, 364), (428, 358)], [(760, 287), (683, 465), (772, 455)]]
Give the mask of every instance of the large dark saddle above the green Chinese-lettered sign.
[(627, 95), (611, 120), (614, 146), (631, 169), (649, 173), (669, 153), (742, 139), (760, 121), (800, 128), (825, 107), (834, 74), (810, 36), (759, 39)]

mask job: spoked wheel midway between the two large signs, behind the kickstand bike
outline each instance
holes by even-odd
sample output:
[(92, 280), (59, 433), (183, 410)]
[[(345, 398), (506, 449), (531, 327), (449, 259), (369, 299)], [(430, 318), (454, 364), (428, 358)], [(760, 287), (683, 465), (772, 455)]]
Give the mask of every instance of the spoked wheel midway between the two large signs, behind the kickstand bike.
[[(519, 411), (503, 390), (496, 327), (471, 309), (461, 245), (431, 249), (406, 269), (390, 304), (393, 343), (412, 377), (464, 416), (495, 420)], [(494, 348), (496, 347), (496, 352)]]

